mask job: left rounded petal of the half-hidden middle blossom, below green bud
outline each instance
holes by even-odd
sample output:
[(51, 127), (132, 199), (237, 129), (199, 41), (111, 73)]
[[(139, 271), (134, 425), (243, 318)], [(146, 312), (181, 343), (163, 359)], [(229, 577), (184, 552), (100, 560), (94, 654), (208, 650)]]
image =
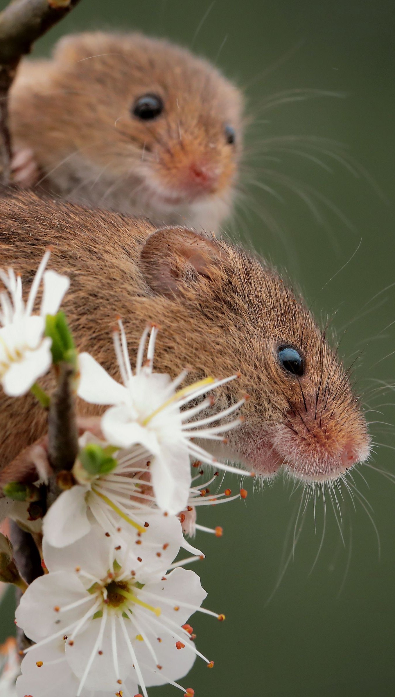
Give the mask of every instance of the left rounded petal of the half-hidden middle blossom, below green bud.
[(87, 487), (79, 485), (63, 491), (47, 512), (42, 530), (48, 544), (64, 547), (84, 537), (91, 529), (86, 515)]

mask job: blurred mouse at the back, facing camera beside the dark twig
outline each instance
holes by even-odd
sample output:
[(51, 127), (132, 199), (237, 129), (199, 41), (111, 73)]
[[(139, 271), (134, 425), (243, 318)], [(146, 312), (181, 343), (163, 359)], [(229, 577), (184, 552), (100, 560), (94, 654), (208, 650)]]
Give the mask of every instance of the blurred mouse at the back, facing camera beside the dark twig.
[(208, 61), (141, 34), (66, 36), (10, 92), (14, 179), (153, 224), (231, 212), (242, 95)]

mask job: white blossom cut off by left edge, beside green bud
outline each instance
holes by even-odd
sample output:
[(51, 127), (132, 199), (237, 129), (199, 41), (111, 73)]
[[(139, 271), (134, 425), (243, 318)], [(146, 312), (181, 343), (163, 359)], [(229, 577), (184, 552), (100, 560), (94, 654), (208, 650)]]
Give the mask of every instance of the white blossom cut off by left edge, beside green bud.
[[(69, 279), (55, 271), (45, 271), (48, 259), (46, 252), (26, 304), (21, 277), (15, 276), (12, 268), (8, 273), (0, 269), (0, 279), (6, 286), (6, 292), (0, 293), (0, 382), (10, 397), (24, 395), (52, 363), (52, 340), (44, 336), (45, 317), (58, 312)], [(41, 280), (44, 289), (40, 313), (33, 314)]]

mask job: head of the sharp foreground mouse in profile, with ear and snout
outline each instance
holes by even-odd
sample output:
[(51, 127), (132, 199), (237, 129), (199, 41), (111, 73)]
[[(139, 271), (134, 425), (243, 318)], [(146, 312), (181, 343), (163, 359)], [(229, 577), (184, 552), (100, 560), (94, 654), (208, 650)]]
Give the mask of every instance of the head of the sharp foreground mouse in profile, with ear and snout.
[(309, 310), (263, 261), (168, 229), (148, 238), (141, 269), (155, 296), (169, 301), (166, 330), (176, 340), (165, 339), (164, 354), (180, 363), (188, 356), (198, 375), (241, 373), (219, 398), (226, 408), (240, 391), (250, 397), (227, 452), (258, 474), (284, 466), (310, 481), (332, 480), (368, 457), (366, 421), (347, 372)]

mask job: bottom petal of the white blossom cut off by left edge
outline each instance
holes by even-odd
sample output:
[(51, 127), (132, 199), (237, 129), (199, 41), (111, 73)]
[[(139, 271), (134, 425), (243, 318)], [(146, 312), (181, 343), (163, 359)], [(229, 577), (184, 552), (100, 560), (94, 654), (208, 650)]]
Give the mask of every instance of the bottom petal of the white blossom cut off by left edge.
[(37, 378), (44, 375), (52, 363), (51, 339), (43, 339), (36, 351), (26, 351), (20, 362), (12, 363), (3, 376), (3, 390), (10, 397), (20, 397), (30, 390)]

